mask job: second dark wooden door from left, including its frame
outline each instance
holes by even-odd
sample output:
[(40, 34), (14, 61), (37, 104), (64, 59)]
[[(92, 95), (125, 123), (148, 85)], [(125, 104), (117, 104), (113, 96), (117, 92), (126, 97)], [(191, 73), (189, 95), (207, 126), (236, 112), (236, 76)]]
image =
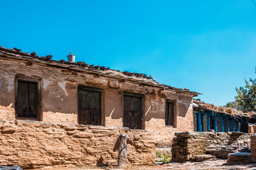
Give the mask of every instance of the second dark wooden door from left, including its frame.
[(79, 86), (79, 124), (101, 125), (101, 92), (99, 89)]

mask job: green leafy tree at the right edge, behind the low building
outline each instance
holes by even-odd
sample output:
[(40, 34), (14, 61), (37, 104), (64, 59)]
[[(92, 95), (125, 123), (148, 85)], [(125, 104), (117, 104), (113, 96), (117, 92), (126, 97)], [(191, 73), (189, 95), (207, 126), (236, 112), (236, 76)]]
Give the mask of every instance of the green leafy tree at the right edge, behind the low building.
[(256, 111), (256, 78), (250, 78), (249, 81), (244, 78), (244, 81), (244, 87), (236, 87), (237, 108), (244, 112)]

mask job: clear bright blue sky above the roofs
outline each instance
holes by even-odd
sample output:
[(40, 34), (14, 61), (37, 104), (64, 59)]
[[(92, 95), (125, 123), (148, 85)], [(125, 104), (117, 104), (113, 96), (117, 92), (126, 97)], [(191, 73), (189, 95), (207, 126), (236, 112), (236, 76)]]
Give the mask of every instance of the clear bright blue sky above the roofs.
[(6, 1), (0, 45), (152, 74), (223, 105), (255, 77), (252, 0)]

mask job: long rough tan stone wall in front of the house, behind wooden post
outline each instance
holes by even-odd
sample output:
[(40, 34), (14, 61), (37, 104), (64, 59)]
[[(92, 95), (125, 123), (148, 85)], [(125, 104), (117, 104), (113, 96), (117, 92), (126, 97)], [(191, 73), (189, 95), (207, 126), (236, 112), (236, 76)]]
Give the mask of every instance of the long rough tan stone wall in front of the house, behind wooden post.
[(116, 165), (118, 136), (127, 134), (127, 164), (154, 165), (156, 143), (145, 130), (30, 120), (0, 122), (0, 165)]

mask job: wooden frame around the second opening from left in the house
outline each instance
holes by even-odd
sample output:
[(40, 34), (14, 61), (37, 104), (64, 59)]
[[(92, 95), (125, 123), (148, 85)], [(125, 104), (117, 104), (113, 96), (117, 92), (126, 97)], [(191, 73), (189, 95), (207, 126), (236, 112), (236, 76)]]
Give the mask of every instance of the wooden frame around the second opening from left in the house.
[(101, 110), (101, 118), (100, 118), (100, 125), (105, 125), (105, 119), (104, 119), (104, 91), (103, 89), (100, 89), (98, 87), (90, 87), (87, 85), (77, 85), (77, 123), (79, 124), (79, 90), (89, 90), (89, 91), (95, 91), (100, 92), (100, 110)]

